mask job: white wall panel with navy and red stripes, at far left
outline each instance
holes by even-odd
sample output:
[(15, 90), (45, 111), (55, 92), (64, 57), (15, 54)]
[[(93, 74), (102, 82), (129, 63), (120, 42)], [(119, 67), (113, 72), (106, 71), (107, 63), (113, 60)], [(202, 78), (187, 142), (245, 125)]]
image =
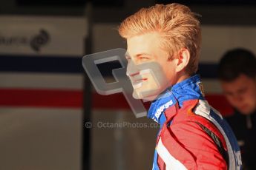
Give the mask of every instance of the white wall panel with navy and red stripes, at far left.
[[(3, 62), (8, 58), (16, 65), (16, 58), (24, 62), (34, 58), (39, 65), (44, 58), (49, 62), (51, 58), (60, 62), (75, 58), (82, 62), (87, 33), (85, 18), (0, 16), (0, 23)], [(20, 68), (26, 69), (25, 72), (0, 71), (0, 169), (79, 170), (82, 165), (82, 72), (58, 69), (52, 72), (47, 64), (42, 72), (36, 68), (29, 65)], [(71, 97), (79, 94), (79, 106), (62, 106), (62, 101), (70, 101), (66, 94)]]

